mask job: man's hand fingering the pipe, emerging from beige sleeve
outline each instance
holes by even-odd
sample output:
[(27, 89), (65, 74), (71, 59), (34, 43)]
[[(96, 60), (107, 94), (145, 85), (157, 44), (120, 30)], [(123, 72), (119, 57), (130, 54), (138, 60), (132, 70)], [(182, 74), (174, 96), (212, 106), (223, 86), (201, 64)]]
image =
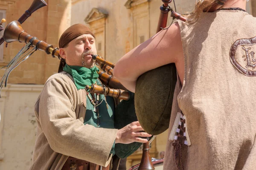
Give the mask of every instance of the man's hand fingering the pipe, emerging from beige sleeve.
[(118, 130), (116, 135), (116, 143), (129, 144), (132, 142), (148, 142), (147, 139), (142, 139), (140, 137), (151, 137), (151, 135), (140, 131), (143, 131), (143, 128), (140, 126), (139, 121), (132, 122), (131, 124)]

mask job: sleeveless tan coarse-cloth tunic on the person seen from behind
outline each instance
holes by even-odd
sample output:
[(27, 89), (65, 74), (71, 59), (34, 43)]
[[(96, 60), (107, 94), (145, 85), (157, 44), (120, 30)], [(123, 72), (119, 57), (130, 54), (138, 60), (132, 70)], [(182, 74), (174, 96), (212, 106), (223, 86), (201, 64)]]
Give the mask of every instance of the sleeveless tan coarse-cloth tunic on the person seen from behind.
[[(185, 78), (176, 84), (164, 170), (256, 170), (256, 19), (216, 11), (178, 23)], [(190, 146), (179, 153), (170, 133), (180, 111)]]

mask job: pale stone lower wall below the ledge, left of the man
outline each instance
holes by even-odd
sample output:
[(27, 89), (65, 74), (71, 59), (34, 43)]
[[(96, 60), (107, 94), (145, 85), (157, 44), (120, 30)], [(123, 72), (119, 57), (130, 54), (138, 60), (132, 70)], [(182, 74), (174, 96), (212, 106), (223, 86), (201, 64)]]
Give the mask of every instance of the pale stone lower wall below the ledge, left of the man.
[(27, 170), (35, 145), (35, 101), (43, 85), (8, 85), (0, 99), (0, 170)]

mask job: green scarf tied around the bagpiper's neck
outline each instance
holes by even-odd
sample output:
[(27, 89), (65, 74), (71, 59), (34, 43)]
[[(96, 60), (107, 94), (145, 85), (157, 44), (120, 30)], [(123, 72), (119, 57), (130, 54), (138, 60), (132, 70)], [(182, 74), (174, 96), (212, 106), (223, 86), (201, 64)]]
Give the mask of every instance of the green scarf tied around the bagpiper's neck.
[(96, 79), (99, 77), (99, 74), (97, 73), (99, 68), (96, 66), (93, 68), (85, 68), (66, 64), (63, 71), (66, 71), (73, 77), (77, 90), (84, 89), (86, 85), (95, 83)]

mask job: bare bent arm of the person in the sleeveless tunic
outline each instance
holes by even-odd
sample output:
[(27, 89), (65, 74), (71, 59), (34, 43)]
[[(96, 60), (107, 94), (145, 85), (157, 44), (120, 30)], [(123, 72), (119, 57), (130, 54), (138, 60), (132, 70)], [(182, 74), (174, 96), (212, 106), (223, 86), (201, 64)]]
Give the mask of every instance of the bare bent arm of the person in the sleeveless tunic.
[(162, 30), (125, 54), (116, 63), (113, 75), (134, 92), (137, 78), (154, 68), (177, 62), (183, 55), (180, 27), (177, 23)]

